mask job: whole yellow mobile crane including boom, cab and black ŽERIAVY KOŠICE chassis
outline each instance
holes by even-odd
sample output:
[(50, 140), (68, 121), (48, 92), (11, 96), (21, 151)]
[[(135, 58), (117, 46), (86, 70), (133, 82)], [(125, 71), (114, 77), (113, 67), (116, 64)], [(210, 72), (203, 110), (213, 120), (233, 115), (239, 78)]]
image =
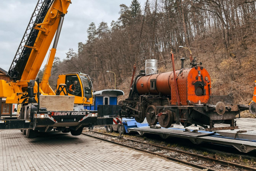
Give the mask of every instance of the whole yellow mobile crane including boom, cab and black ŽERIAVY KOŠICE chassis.
[[(36, 8), (7, 73), (12, 82), (0, 80), (0, 97), (21, 104), (20, 120), (0, 119), (0, 129), (21, 129), (28, 138), (38, 131), (57, 129), (80, 135), (84, 127), (113, 125), (113, 118), (97, 118), (85, 111), (92, 104), (92, 82), (82, 73), (59, 74), (57, 90), (49, 85), (52, 64), (70, 0), (38, 0)], [(54, 38), (42, 82), (36, 78)], [(74, 106), (75, 105), (75, 106)], [(118, 123), (121, 124), (121, 123)]]

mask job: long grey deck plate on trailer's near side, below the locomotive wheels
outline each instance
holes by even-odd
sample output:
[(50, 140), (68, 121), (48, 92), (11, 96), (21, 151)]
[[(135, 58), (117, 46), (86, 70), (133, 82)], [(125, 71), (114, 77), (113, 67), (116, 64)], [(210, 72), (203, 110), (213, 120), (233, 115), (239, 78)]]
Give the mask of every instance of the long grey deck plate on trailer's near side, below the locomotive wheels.
[(201, 137), (201, 136), (209, 136), (215, 134), (214, 132), (200, 132), (200, 133), (192, 133), (192, 132), (184, 132), (183, 130), (179, 129), (172, 129), (172, 128), (150, 128), (150, 127), (143, 127), (143, 128), (128, 128), (129, 131), (143, 131), (144, 133), (151, 133), (151, 134), (165, 134), (167, 136), (172, 135), (180, 135), (180, 136), (192, 136), (192, 137)]

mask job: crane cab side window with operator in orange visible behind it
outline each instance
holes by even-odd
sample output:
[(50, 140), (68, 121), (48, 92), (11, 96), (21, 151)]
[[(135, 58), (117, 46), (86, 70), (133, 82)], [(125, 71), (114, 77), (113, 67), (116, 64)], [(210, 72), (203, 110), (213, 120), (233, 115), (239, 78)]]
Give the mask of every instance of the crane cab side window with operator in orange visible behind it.
[(68, 93), (75, 96), (82, 97), (81, 85), (76, 75), (67, 75), (66, 85), (67, 85)]

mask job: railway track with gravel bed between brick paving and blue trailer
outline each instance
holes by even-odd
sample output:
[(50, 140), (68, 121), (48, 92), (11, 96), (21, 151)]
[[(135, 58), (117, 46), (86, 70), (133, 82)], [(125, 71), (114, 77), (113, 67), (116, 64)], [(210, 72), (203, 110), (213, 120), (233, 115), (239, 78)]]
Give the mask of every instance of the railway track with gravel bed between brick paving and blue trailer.
[[(225, 167), (224, 169), (232, 169), (232, 170), (234, 170), (234, 169), (235, 170), (243, 170), (243, 171), (255, 171), (256, 170), (255, 167), (249, 167), (249, 166), (236, 164), (233, 162), (220, 160), (220, 159), (218, 159), (218, 156), (215, 156), (215, 158), (211, 158), (211, 157), (206, 157), (206, 156), (202, 156), (202, 155), (198, 155), (198, 154), (194, 154), (194, 153), (190, 153), (190, 152), (176, 150), (176, 149), (169, 148), (169, 147), (164, 147), (164, 146), (149, 144), (149, 143), (145, 143), (145, 142), (141, 142), (141, 141), (137, 141), (137, 140), (132, 140), (132, 139), (128, 139), (128, 138), (126, 138), (128, 140), (126, 142), (117, 143), (117, 142), (111, 141), (109, 139), (111, 137), (118, 137), (118, 136), (109, 135), (109, 134), (105, 134), (105, 133), (101, 133), (101, 132), (97, 132), (97, 131), (85, 132), (85, 133), (83, 133), (83, 135), (94, 137), (94, 138), (97, 138), (97, 139), (100, 139), (103, 141), (107, 141), (110, 143), (122, 145), (122, 146), (125, 146), (128, 148), (132, 148), (134, 150), (140, 151), (140, 152), (149, 153), (151, 155), (169, 159), (169, 160), (172, 160), (172, 161), (175, 161), (178, 163), (182, 163), (184, 165), (192, 166), (192, 167), (195, 167), (198, 169), (208, 169), (211, 171), (216, 171), (216, 169), (220, 170), (220, 169), (223, 169), (223, 167)], [(179, 159), (177, 156), (183, 156), (186, 158), (186, 160)], [(201, 161), (202, 164), (196, 164), (195, 161), (196, 162)], [(214, 166), (216, 169), (214, 168)]]

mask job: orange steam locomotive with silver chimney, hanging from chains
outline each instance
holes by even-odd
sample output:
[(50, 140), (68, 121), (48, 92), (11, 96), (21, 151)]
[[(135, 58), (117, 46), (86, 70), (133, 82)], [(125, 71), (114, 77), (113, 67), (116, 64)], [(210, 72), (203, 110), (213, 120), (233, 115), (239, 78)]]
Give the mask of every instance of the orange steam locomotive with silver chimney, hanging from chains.
[[(213, 96), (211, 77), (198, 66), (201, 63), (194, 60), (191, 68), (183, 68), (181, 62), (175, 74), (157, 74), (157, 61), (146, 60), (146, 71), (134, 78), (129, 97), (121, 103), (122, 115), (140, 123), (146, 118), (149, 125), (159, 122), (164, 128), (174, 123), (184, 128), (195, 124), (208, 131), (238, 128), (234, 119), (249, 106), (234, 104), (233, 96)], [(219, 123), (230, 126), (215, 128)]]

